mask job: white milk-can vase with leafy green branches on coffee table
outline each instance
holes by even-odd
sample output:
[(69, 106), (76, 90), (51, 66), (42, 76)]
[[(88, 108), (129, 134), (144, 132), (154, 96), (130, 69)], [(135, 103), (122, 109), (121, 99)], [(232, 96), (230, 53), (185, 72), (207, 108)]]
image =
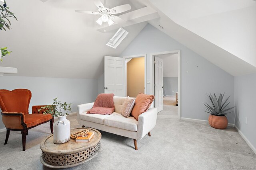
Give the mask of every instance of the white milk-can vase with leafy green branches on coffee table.
[(71, 103), (61, 103), (57, 99), (53, 100), (52, 105), (41, 107), (38, 111), (45, 110), (44, 114), (58, 117), (58, 121), (53, 124), (53, 143), (62, 144), (70, 140), (70, 121), (67, 119), (67, 115), (71, 111)]

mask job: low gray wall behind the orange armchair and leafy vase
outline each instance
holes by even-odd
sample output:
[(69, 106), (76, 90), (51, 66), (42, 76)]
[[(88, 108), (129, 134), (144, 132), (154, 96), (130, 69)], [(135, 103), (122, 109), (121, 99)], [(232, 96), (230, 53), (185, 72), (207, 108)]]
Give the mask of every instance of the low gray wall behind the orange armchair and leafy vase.
[[(0, 77), (0, 89), (14, 90), (16, 88), (26, 88), (32, 92), (30, 113), (32, 106), (52, 104), (56, 97), (62, 102), (72, 103), (72, 112), (76, 112), (77, 105), (94, 102), (98, 94), (98, 81), (72, 78)], [(2, 129), (4, 128), (2, 116), (0, 119), (0, 129)]]

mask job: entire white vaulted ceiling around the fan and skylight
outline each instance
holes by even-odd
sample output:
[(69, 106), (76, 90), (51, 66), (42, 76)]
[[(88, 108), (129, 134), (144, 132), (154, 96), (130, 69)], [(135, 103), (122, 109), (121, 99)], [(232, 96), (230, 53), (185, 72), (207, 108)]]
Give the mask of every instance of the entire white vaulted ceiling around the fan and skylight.
[[(256, 15), (248, 18), (256, 12), (253, 0), (102, 3), (109, 7), (128, 3), (132, 6), (128, 12), (142, 8), (144, 12), (106, 27), (104, 33), (95, 22), (99, 16), (74, 12), (96, 11), (92, 0), (7, 0), (18, 21), (12, 20), (12, 29), (0, 31), (0, 47), (13, 51), (0, 66), (18, 68), (18, 76), (98, 78), (104, 71), (104, 55), (119, 56), (150, 23), (234, 76), (256, 72)], [(120, 16), (125, 18), (128, 12)], [(129, 32), (127, 37), (116, 49), (106, 46), (119, 27)]]

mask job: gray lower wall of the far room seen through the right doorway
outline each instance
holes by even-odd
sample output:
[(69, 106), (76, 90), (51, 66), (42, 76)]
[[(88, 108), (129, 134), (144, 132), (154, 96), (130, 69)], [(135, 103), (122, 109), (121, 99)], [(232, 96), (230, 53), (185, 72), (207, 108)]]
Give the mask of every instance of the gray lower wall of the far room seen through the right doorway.
[(166, 95), (175, 96), (178, 92), (178, 77), (163, 77), (163, 85)]

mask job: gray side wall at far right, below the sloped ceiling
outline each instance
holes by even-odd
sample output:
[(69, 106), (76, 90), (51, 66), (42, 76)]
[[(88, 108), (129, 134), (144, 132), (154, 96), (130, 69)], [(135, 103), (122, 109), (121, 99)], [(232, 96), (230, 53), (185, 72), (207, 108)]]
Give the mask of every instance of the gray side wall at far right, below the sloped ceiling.
[[(234, 80), (236, 127), (256, 148), (256, 74), (236, 76)], [(247, 124), (246, 124), (247, 117)], [(254, 150), (255, 151), (255, 150)]]

